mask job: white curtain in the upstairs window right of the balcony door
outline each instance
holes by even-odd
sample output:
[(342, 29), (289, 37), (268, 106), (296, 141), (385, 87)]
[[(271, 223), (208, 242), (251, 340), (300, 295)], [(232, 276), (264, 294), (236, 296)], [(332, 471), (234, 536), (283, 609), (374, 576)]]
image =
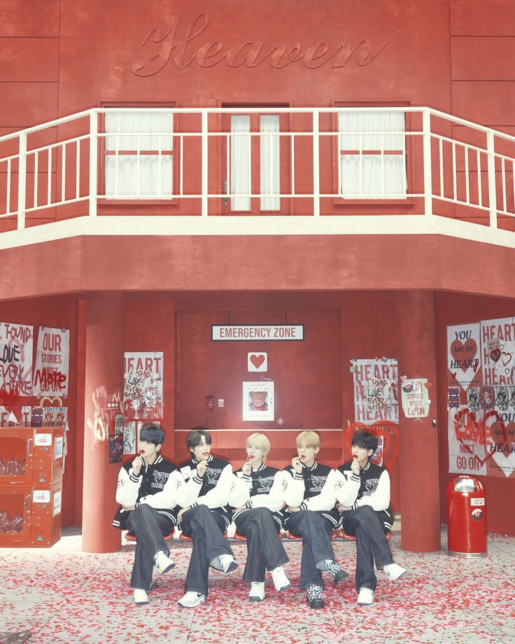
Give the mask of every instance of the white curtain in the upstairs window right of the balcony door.
[[(405, 198), (404, 112), (339, 112), (338, 130), (340, 194), (358, 198), (369, 195)], [(370, 154), (376, 151), (400, 154)]]

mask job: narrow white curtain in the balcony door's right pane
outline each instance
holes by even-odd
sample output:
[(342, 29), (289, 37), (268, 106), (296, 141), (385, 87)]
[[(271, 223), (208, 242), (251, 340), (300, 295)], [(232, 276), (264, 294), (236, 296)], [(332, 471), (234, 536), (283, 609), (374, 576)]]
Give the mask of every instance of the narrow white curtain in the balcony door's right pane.
[[(281, 192), (279, 165), (279, 117), (263, 115), (260, 120), (260, 178), (262, 195), (278, 195)], [(277, 134), (275, 134), (277, 132)], [(261, 197), (261, 210), (280, 210), (281, 197)]]

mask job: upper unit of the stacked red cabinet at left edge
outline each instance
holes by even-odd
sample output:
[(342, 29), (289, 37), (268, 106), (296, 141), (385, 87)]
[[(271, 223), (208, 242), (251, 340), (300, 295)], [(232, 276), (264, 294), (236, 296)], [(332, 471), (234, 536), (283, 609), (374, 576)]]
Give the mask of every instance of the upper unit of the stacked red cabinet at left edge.
[(0, 428), (0, 485), (62, 481), (63, 430)]

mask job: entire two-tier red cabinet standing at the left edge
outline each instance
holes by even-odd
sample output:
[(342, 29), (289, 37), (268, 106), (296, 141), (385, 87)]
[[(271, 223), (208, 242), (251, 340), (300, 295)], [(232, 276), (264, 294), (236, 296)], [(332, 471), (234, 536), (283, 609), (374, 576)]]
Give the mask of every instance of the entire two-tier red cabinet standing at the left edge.
[(0, 546), (61, 538), (63, 430), (0, 428)]

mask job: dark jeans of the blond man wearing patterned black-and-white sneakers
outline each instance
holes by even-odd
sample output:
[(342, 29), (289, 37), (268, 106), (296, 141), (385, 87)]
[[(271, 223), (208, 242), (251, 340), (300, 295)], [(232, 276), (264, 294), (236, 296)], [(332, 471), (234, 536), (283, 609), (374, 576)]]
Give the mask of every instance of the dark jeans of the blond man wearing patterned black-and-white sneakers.
[(324, 587), (322, 572), (316, 566), (323, 568), (325, 559), (334, 559), (331, 545), (333, 524), (318, 512), (301, 510), (290, 514), (287, 526), (292, 535), (302, 536), (301, 589), (311, 584)]

